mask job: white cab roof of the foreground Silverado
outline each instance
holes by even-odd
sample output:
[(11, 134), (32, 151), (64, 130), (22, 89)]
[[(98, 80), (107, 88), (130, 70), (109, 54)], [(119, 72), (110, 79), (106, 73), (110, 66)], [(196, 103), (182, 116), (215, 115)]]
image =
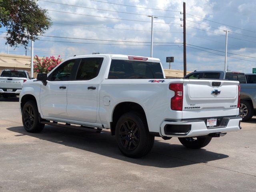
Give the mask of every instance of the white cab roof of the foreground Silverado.
[[(82, 58), (82, 57), (88, 57), (88, 56), (110, 56), (111, 59), (120, 59), (120, 60), (129, 60), (128, 57), (138, 57), (138, 58), (147, 58), (147, 60), (144, 61), (148, 61), (148, 62), (160, 62), (160, 59), (158, 58), (153, 58), (153, 57), (144, 57), (144, 56), (134, 56), (134, 55), (122, 55), (122, 54), (91, 54), (91, 55), (79, 55), (79, 56), (74, 56), (74, 57), (70, 57), (67, 58), (66, 60), (70, 60), (70, 59), (75, 59), (75, 58)], [(136, 60), (136, 59), (134, 59)]]

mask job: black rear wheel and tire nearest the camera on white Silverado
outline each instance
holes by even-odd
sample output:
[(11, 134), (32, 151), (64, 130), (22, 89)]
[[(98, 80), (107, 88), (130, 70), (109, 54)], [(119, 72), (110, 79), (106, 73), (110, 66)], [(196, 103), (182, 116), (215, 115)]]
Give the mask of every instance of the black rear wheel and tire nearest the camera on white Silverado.
[(148, 154), (155, 138), (149, 134), (146, 119), (135, 112), (125, 113), (119, 118), (115, 136), (120, 151), (130, 158)]

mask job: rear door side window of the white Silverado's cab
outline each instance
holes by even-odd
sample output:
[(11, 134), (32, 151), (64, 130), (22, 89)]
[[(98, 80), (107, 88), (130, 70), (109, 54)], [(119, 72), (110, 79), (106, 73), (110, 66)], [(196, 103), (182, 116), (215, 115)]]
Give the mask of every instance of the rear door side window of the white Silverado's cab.
[(81, 60), (76, 80), (90, 80), (98, 76), (103, 58), (84, 58)]

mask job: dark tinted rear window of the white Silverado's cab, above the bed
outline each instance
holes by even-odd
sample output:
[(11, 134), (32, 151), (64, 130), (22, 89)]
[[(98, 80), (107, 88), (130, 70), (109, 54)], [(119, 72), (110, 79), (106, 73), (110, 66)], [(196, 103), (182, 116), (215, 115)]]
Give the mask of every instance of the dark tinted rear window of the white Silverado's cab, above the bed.
[(112, 60), (109, 79), (162, 79), (162, 68), (158, 62), (134, 60)]

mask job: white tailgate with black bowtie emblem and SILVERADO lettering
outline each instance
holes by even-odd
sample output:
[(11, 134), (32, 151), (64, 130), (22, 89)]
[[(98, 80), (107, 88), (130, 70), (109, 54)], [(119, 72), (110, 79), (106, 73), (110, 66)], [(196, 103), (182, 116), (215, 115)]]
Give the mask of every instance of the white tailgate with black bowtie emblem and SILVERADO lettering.
[(184, 80), (182, 119), (238, 115), (238, 84), (226, 80)]

